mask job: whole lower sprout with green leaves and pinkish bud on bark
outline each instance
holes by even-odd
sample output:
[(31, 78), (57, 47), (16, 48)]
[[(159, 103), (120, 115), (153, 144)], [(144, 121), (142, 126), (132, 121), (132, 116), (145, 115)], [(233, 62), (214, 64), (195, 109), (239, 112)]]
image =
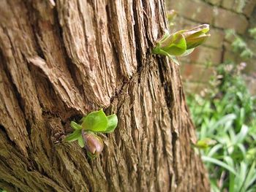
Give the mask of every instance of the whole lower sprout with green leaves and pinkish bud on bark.
[(103, 141), (97, 134), (111, 133), (118, 123), (116, 114), (106, 116), (103, 110), (91, 112), (80, 120), (80, 124), (71, 121), (74, 129), (72, 134), (65, 138), (67, 142), (78, 140), (80, 147), (85, 147), (90, 158), (94, 158), (103, 150)]

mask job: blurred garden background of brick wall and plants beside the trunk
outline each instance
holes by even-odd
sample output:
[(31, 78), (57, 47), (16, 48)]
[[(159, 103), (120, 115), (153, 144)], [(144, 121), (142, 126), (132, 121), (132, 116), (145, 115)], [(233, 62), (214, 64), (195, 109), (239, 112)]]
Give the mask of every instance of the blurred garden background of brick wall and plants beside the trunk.
[(256, 191), (256, 0), (167, 0), (170, 33), (210, 24), (181, 77), (212, 191)]

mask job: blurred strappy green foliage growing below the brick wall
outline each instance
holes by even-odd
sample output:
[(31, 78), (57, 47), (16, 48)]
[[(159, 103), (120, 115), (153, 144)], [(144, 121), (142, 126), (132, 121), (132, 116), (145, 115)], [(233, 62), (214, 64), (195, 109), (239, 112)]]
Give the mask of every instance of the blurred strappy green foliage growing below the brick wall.
[[(255, 98), (241, 79), (240, 69), (221, 64), (206, 96), (188, 96), (197, 148), (208, 168), (212, 191), (256, 189)], [(216, 144), (208, 145), (212, 140)]]

